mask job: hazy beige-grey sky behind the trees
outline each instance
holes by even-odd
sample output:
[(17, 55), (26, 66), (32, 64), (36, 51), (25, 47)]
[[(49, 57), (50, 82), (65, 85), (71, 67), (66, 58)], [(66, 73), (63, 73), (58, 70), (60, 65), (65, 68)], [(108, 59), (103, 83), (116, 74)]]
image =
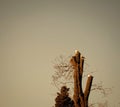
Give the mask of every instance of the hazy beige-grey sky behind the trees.
[(52, 62), (76, 49), (119, 107), (119, 46), (119, 0), (0, 0), (0, 107), (52, 107)]

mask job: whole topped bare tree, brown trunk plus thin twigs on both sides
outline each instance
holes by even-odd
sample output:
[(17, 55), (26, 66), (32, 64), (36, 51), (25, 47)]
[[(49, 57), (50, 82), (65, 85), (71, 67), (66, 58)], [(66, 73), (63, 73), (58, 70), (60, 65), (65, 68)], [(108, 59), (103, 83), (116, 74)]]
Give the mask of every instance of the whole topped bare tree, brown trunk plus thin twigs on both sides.
[[(71, 60), (69, 61), (69, 59)], [(52, 76), (53, 83), (58, 89), (64, 85), (73, 86), (74, 84), (73, 99), (75, 107), (88, 107), (88, 97), (90, 91), (99, 90), (102, 94), (106, 95), (106, 92), (109, 90), (103, 88), (102, 83), (92, 85), (93, 76), (88, 75), (86, 88), (83, 92), (82, 78), (86, 77), (86, 74), (83, 75), (83, 71), (85, 72), (83, 69), (84, 59), (85, 58), (79, 53), (79, 51), (76, 51), (76, 54), (74, 56), (69, 56), (67, 58), (61, 55), (55, 60), (54, 63), (54, 68), (56, 71)], [(95, 104), (90, 104), (89, 106), (93, 107), (93, 105)]]

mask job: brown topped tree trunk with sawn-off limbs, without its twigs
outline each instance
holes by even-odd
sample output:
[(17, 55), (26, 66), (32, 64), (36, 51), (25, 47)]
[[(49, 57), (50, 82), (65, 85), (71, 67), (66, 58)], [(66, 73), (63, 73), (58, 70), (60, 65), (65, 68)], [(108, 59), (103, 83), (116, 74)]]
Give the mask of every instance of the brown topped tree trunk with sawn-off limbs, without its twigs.
[(88, 75), (85, 91), (82, 89), (82, 75), (84, 67), (84, 57), (79, 51), (75, 51), (75, 56), (71, 58), (71, 64), (74, 69), (74, 105), (75, 107), (88, 107), (88, 98), (92, 86), (93, 76)]

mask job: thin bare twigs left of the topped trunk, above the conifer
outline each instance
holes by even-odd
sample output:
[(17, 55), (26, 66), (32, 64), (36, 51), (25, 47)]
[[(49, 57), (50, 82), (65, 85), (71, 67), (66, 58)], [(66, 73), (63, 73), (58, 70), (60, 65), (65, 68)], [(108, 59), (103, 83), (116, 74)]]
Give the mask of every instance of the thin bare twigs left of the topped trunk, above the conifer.
[(53, 84), (58, 90), (61, 86), (73, 84), (73, 68), (69, 63), (70, 57), (65, 58), (63, 55), (56, 58), (54, 61), (55, 73), (52, 76)]

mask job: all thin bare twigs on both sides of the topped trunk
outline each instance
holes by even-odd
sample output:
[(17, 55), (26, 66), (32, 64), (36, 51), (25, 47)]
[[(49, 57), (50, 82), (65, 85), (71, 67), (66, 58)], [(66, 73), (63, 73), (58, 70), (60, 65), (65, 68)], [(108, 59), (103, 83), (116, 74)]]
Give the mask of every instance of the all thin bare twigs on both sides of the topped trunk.
[[(70, 57), (64, 57), (61, 55), (60, 57), (56, 58), (54, 61), (54, 68), (55, 68), (55, 73), (52, 76), (53, 79), (53, 84), (55, 85), (56, 88), (60, 90), (62, 86), (68, 86), (70, 89), (73, 89), (73, 66), (70, 64)], [(88, 75), (88, 72), (86, 68), (88, 67), (88, 64), (85, 63), (85, 69), (84, 69), (84, 74), (82, 78), (86, 77)], [(94, 72), (91, 72), (94, 73)], [(97, 84), (92, 84), (91, 91), (99, 91), (101, 92), (102, 95), (106, 96), (110, 94), (111, 89), (110, 88), (103, 88), (102, 82), (97, 83)], [(71, 95), (73, 91), (71, 91)], [(94, 107), (94, 105), (98, 105), (98, 107), (102, 107), (99, 103), (93, 103), (89, 104), (89, 107)], [(102, 104), (102, 103), (101, 103)], [(103, 104), (105, 105), (105, 104)], [(103, 106), (107, 107), (107, 106)]]

